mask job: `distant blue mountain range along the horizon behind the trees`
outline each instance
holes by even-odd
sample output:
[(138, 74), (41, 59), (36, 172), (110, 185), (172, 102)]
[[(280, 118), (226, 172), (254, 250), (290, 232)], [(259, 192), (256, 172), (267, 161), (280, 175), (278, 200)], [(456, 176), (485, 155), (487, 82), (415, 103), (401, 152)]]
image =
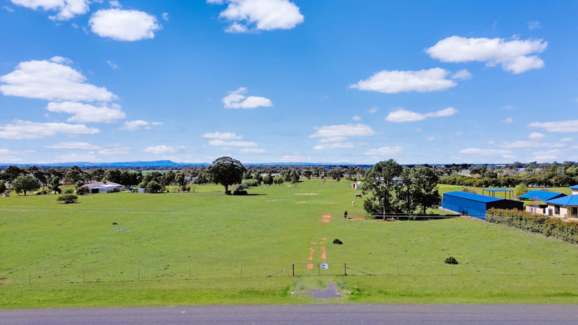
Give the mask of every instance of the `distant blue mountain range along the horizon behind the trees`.
[[(6, 166), (45, 166), (45, 167), (112, 167), (112, 168), (136, 168), (136, 167), (198, 167), (198, 166), (210, 166), (209, 162), (191, 163), (191, 162), (174, 162), (171, 160), (155, 160), (155, 161), (126, 161), (126, 162), (88, 162), (88, 161), (77, 161), (77, 162), (50, 162), (45, 164), (2, 164), (0, 167)], [(286, 165), (321, 165), (321, 166), (336, 166), (336, 165), (348, 165), (348, 166), (364, 166), (361, 164), (335, 164), (330, 162), (263, 162), (261, 164), (243, 164), (246, 166), (286, 166)]]

